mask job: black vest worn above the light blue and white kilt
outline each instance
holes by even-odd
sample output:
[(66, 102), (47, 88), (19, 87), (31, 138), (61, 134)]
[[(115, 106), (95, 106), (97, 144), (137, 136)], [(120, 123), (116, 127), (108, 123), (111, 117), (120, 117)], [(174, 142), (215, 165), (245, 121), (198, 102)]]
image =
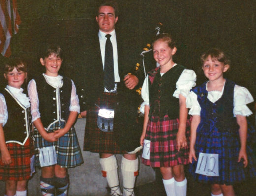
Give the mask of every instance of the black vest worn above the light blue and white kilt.
[(49, 85), (43, 75), (34, 80), (36, 82), (39, 111), (43, 126), (48, 128), (54, 121), (63, 119), (67, 121), (70, 112), (71, 80), (63, 77), (63, 86), (61, 88), (54, 88)]

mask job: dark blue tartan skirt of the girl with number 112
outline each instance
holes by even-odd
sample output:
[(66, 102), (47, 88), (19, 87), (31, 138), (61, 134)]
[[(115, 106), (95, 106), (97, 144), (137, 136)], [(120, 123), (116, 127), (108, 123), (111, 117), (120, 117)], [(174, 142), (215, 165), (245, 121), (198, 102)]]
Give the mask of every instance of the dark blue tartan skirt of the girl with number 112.
[(237, 162), (240, 151), (238, 130), (219, 131), (216, 126), (211, 128), (208, 125), (202, 125), (201, 128), (198, 126), (198, 128), (195, 143), (196, 157), (198, 159), (199, 152), (218, 154), (219, 176), (195, 173), (198, 162), (193, 160), (189, 170), (195, 180), (209, 184), (234, 185), (248, 177), (256, 176), (256, 159), (249, 145), (246, 147), (247, 167), (244, 168), (243, 159)]

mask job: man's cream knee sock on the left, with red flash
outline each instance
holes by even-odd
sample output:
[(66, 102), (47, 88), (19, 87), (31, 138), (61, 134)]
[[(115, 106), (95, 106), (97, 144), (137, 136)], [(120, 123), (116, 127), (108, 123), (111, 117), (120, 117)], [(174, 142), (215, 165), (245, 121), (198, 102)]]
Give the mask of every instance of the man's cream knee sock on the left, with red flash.
[(111, 188), (111, 194), (116, 193), (122, 195), (122, 192), (119, 188), (119, 179), (117, 172), (118, 166), (115, 155), (112, 155), (108, 158), (100, 158), (99, 163), (101, 165), (102, 175), (103, 177), (107, 178), (108, 186)]

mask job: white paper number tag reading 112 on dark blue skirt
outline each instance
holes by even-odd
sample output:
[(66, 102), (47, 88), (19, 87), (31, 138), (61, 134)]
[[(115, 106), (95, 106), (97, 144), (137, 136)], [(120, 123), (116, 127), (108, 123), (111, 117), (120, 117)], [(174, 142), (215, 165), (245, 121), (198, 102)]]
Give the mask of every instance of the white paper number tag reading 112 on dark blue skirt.
[(219, 176), (219, 155), (200, 152), (195, 173), (206, 176)]

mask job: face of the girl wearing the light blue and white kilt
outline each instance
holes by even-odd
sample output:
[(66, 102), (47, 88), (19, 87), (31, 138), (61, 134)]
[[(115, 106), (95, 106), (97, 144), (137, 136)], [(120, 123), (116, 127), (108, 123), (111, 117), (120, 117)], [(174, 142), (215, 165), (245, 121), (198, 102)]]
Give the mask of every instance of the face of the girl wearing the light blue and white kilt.
[(58, 71), (60, 70), (62, 64), (62, 59), (59, 56), (56, 56), (56, 54), (50, 54), (44, 59), (40, 58), (40, 62), (42, 66), (45, 66), (46, 75), (53, 77), (58, 76)]

